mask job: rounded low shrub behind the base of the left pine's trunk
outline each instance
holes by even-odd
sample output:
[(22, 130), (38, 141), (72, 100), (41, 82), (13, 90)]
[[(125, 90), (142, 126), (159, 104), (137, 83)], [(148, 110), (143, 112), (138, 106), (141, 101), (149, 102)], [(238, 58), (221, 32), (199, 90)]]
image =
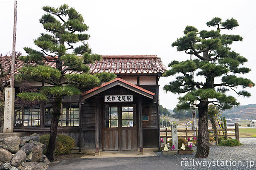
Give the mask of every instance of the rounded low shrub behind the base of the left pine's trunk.
[[(46, 149), (43, 151), (45, 154), (48, 148), (50, 135), (43, 135), (40, 137), (40, 142), (46, 145)], [(57, 141), (55, 146), (55, 155), (69, 154), (70, 151), (75, 147), (75, 140), (70, 136), (57, 135)]]

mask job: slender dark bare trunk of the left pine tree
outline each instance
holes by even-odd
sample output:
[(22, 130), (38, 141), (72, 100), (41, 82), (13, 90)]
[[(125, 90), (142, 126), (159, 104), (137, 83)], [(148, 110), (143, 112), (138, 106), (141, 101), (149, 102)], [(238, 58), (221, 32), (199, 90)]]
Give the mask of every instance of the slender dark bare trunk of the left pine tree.
[(57, 128), (58, 121), (61, 116), (61, 97), (58, 97), (54, 100), (53, 104), (53, 112), (52, 112), (52, 122), (50, 127), (50, 138), (46, 156), (49, 161), (55, 160), (55, 144), (57, 139)]

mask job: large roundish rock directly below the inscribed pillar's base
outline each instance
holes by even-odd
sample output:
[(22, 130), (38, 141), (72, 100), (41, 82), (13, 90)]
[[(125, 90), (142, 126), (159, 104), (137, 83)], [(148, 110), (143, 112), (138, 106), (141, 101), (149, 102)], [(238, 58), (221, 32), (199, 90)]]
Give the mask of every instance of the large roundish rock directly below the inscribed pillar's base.
[(16, 153), (19, 150), (20, 138), (18, 136), (10, 136), (3, 139), (3, 148), (11, 153)]

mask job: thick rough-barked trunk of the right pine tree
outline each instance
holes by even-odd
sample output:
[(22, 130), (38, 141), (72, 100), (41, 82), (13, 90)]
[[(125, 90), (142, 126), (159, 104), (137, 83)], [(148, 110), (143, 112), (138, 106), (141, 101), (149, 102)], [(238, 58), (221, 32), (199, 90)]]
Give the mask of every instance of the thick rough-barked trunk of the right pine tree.
[(208, 133), (208, 102), (201, 101), (198, 106), (198, 138), (196, 158), (206, 158), (209, 155), (209, 133)]

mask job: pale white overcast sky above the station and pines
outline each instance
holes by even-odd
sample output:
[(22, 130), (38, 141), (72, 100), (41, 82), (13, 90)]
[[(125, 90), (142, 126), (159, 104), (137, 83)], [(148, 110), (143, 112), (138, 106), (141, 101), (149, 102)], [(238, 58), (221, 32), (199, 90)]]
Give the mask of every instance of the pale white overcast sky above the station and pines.
[[(225, 34), (238, 34), (242, 42), (232, 49), (248, 59), (251, 69), (242, 75), (256, 83), (256, 1), (254, 0), (17, 0), (16, 51), (26, 55), (23, 47), (38, 49), (33, 40), (44, 32), (39, 19), (43, 6), (58, 7), (63, 3), (75, 8), (89, 26), (88, 44), (93, 53), (101, 55), (157, 55), (168, 67), (172, 60), (186, 60), (189, 55), (178, 52), (172, 42), (183, 36), (186, 26), (211, 30), (206, 22), (213, 17), (235, 18), (239, 27)], [(0, 0), (0, 53), (12, 51), (14, 0)], [(39, 50), (39, 49), (38, 49)], [(160, 78), (160, 105), (173, 109), (179, 95), (163, 91), (175, 77)], [(195, 77), (197, 79), (197, 77)], [(250, 98), (237, 96), (240, 105), (256, 103), (256, 88), (247, 89)], [(181, 95), (182, 96), (182, 95)]]

